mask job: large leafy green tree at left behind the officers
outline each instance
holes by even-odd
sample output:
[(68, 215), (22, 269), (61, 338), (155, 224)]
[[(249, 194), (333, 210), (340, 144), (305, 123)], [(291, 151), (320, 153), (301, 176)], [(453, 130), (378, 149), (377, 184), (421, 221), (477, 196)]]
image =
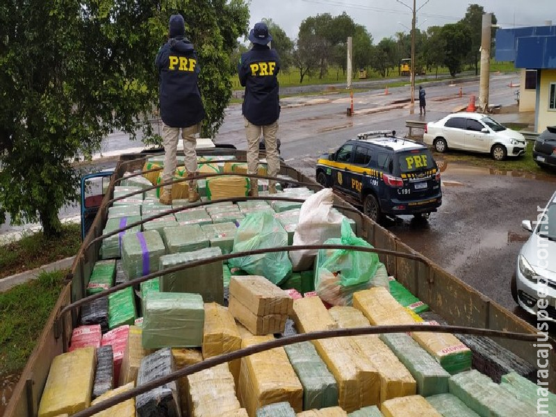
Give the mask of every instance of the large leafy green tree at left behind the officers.
[[(152, 137), (156, 51), (171, 13), (186, 19), (202, 65), (204, 134), (222, 123), (227, 71), (247, 31), (243, 0), (8, 1), (0, 6), (0, 204), (14, 224), (60, 231), (58, 211), (76, 202), (74, 158), (115, 130)], [(199, 24), (198, 22), (202, 22)]]

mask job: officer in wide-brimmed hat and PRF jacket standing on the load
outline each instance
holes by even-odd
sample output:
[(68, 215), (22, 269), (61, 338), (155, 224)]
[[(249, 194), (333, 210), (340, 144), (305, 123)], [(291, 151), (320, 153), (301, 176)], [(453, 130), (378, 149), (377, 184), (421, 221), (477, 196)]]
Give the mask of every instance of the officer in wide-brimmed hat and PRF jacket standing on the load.
[[(272, 36), (264, 22), (256, 23), (249, 33), (253, 47), (241, 55), (239, 81), (245, 87), (242, 113), (247, 136), (247, 174), (256, 174), (259, 167), (259, 138), (265, 140), (268, 176), (276, 177), (280, 158), (276, 144), (280, 104), (278, 72), (280, 64), (275, 49), (268, 47)], [(276, 181), (269, 181), (268, 192), (276, 193)], [(259, 195), (258, 181), (251, 180), (250, 195)]]

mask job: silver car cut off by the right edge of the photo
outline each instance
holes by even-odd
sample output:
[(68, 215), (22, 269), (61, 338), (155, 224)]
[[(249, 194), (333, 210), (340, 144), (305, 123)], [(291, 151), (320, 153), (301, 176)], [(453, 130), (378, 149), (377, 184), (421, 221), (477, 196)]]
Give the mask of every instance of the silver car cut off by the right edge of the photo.
[(521, 226), (531, 236), (519, 251), (512, 297), (525, 311), (556, 321), (556, 193), (533, 224)]

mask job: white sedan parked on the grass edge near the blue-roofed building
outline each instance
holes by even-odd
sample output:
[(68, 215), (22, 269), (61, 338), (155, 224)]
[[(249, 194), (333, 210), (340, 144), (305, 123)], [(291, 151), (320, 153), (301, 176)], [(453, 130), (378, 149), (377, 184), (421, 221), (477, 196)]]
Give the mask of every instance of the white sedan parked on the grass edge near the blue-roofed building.
[(492, 117), (479, 113), (454, 113), (425, 126), (423, 142), (436, 152), (448, 149), (484, 152), (496, 161), (525, 154), (525, 138)]

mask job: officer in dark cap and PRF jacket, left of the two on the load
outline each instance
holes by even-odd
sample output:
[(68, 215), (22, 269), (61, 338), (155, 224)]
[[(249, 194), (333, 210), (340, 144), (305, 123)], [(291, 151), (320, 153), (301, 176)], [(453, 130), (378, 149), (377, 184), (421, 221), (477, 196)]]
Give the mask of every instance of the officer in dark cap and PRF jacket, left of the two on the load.
[[(170, 16), (168, 41), (156, 56), (159, 76), (159, 95), (162, 138), (164, 142), (164, 182), (172, 181), (177, 165), (177, 146), (181, 130), (183, 154), (188, 177), (197, 173), (197, 153), (195, 135), (199, 133), (200, 122), (204, 119), (204, 107), (199, 91), (199, 64), (193, 44), (186, 38), (186, 26), (181, 15)], [(197, 181), (188, 181), (189, 201), (199, 199)], [(172, 186), (164, 186), (161, 204), (172, 204)]]

